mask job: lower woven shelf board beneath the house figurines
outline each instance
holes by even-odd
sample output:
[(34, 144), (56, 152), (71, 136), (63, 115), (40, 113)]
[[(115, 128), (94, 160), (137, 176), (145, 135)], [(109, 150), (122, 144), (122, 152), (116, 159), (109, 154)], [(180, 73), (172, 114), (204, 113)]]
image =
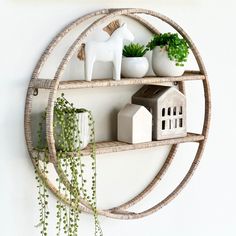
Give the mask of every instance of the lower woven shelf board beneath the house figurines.
[[(164, 145), (173, 145), (178, 143), (188, 143), (188, 142), (199, 142), (204, 140), (204, 136), (201, 134), (188, 133), (186, 137), (182, 138), (173, 138), (173, 139), (165, 139), (158, 141), (151, 141), (146, 143), (137, 143), (137, 144), (129, 144), (119, 141), (104, 141), (96, 143), (96, 154), (104, 154), (104, 153), (112, 153), (112, 152), (122, 152), (129, 150), (137, 150), (137, 149), (147, 149), (157, 146)], [(38, 153), (37, 150), (33, 151), (34, 156)], [(75, 154), (75, 153), (68, 153)], [(85, 149), (81, 150), (81, 154), (84, 156), (90, 154), (90, 145), (88, 145)]]

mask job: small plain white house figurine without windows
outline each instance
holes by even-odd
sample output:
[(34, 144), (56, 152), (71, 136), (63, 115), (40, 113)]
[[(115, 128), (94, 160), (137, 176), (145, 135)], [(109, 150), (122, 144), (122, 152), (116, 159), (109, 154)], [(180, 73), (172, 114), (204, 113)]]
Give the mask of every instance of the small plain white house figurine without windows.
[(144, 107), (127, 104), (118, 113), (118, 141), (142, 143), (152, 141), (152, 114)]

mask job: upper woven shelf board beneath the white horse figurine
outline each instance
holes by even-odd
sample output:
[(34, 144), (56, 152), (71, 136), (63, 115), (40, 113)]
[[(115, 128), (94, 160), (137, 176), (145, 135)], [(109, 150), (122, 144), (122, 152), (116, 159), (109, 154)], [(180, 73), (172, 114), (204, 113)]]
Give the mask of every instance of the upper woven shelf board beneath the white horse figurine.
[[(186, 71), (182, 76), (177, 77), (144, 77), (144, 78), (121, 78), (113, 79), (94, 79), (85, 80), (62, 80), (59, 82), (58, 89), (77, 89), (77, 88), (95, 88), (95, 87), (116, 87), (124, 85), (142, 85), (142, 84), (162, 84), (188, 80), (204, 80), (205, 76), (199, 71)], [(31, 80), (30, 87), (40, 89), (50, 89), (53, 80), (35, 79)]]

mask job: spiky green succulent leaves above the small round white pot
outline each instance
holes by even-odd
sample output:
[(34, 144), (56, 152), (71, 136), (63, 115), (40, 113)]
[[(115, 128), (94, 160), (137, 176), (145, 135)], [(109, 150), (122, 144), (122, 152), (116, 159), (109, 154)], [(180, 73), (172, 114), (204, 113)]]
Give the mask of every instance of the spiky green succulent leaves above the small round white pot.
[(125, 57), (143, 57), (148, 49), (139, 43), (130, 43), (123, 48), (123, 56)]

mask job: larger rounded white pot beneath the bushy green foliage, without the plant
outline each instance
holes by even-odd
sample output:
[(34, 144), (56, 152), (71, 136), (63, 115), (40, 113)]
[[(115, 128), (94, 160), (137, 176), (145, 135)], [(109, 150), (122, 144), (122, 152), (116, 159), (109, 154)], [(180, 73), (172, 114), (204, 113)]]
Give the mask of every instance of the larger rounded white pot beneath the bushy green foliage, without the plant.
[(152, 69), (157, 76), (181, 76), (185, 66), (176, 66), (176, 62), (169, 59), (165, 47), (156, 46), (152, 52)]

